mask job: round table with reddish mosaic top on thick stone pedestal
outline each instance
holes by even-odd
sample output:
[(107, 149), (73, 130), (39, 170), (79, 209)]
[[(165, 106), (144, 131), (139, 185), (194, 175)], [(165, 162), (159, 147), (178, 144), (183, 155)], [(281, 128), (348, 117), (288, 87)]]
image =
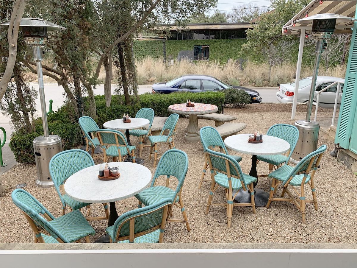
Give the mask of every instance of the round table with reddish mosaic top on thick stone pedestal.
[(187, 126), (187, 132), (183, 139), (187, 140), (188, 142), (197, 142), (198, 140), (200, 140), (200, 135), (197, 134), (197, 115), (216, 113), (218, 111), (218, 107), (216, 105), (205, 103), (195, 103), (194, 107), (187, 107), (186, 103), (179, 103), (170, 105), (168, 110), (170, 113), (188, 114), (190, 116)]

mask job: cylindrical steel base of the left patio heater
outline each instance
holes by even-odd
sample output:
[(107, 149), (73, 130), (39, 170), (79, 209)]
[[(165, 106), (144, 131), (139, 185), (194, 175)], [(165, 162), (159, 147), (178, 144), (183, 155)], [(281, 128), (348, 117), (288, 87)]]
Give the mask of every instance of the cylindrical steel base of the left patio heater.
[(58, 135), (39, 136), (32, 141), (32, 144), (34, 145), (37, 168), (36, 186), (40, 188), (53, 187), (48, 165), (55, 154), (62, 152), (62, 139)]

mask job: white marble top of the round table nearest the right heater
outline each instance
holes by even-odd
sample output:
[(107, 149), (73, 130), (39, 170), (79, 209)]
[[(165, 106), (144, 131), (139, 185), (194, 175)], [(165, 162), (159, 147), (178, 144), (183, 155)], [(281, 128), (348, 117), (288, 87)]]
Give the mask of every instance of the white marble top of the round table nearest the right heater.
[(238, 134), (224, 140), (226, 146), (243, 154), (271, 155), (283, 154), (290, 149), (290, 144), (283, 139), (263, 134), (262, 143), (248, 143), (251, 134)]

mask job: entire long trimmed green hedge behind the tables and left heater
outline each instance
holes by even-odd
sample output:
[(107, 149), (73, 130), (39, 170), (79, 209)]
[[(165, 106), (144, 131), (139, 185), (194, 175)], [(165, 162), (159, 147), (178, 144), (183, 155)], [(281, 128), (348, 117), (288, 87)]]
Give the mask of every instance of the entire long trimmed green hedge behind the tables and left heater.
[[(100, 128), (106, 121), (122, 118), (123, 113), (135, 116), (141, 108), (152, 108), (155, 116), (169, 116), (167, 108), (171, 104), (186, 103), (187, 99), (196, 103), (214, 104), (221, 111), (224, 104), (225, 95), (222, 92), (202, 92), (202, 93), (172, 93), (172, 94), (143, 94), (140, 95), (139, 103), (125, 105), (124, 96), (113, 95), (110, 107), (105, 106), (104, 95), (95, 96), (97, 108), (97, 123)], [(72, 123), (68, 106), (63, 105), (56, 113), (47, 117), (49, 132), (59, 135), (62, 138), (63, 150), (72, 149), (82, 143), (82, 131), (78, 123)], [(10, 149), (15, 155), (17, 162), (22, 164), (34, 164), (34, 148), (32, 140), (43, 135), (42, 118), (35, 120), (36, 132), (30, 134), (25, 131), (16, 131), (10, 138)]]

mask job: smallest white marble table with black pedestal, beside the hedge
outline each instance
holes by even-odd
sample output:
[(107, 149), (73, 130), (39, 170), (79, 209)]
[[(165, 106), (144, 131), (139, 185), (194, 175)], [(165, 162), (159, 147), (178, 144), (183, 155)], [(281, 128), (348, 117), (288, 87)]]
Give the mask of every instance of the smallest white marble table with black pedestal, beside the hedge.
[[(130, 119), (131, 119), (130, 123), (124, 123), (122, 118), (110, 120), (110, 121), (105, 122), (103, 124), (103, 126), (106, 129), (125, 130), (126, 140), (127, 140), (128, 144), (131, 145), (129, 129), (141, 128), (142, 126), (149, 124), (150, 121), (145, 118), (135, 118), (134, 117), (134, 118), (130, 118)], [(132, 162), (132, 157), (130, 155), (128, 155), (126, 161)], [(144, 159), (135, 157), (135, 162), (137, 164), (142, 165), (142, 164), (144, 164)]]

